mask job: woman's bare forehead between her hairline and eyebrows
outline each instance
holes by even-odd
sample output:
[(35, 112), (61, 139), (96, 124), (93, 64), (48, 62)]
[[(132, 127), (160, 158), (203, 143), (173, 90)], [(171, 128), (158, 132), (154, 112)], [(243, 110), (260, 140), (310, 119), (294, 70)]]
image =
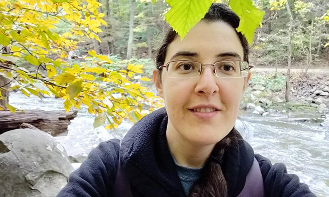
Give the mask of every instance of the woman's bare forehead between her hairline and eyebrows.
[[(198, 54), (198, 60), (216, 60), (220, 53), (236, 53), (243, 60), (243, 48), (235, 30), (224, 22), (197, 23), (184, 37), (179, 36), (168, 45), (165, 62), (180, 51), (190, 51)], [(181, 58), (181, 57), (177, 57)]]

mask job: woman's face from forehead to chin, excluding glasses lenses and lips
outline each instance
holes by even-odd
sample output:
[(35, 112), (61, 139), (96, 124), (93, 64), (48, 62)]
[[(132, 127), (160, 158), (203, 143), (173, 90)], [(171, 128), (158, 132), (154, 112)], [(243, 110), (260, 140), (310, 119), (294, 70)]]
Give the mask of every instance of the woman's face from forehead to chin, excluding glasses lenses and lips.
[[(172, 58), (183, 51), (194, 55)], [(200, 21), (183, 42), (177, 36), (168, 45), (164, 65), (173, 60), (199, 61), (202, 64), (243, 60), (243, 48), (237, 33), (228, 24)], [(219, 78), (213, 67), (204, 66), (197, 78), (169, 78), (165, 68), (161, 75), (160, 80), (159, 71), (153, 71), (153, 80), (168, 114), (167, 134), (173, 132), (174, 136), (185, 141), (210, 145), (219, 142), (231, 131), (250, 74), (246, 78)], [(198, 107), (200, 112), (194, 112), (193, 108), (198, 105), (213, 105), (218, 111), (202, 112), (203, 107)]]

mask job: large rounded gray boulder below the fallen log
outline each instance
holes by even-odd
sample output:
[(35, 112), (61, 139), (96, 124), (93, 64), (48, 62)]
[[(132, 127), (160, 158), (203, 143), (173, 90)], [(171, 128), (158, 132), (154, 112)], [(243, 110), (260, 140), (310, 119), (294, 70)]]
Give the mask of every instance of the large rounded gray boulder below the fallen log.
[(40, 130), (0, 135), (1, 197), (54, 197), (73, 167), (63, 146)]

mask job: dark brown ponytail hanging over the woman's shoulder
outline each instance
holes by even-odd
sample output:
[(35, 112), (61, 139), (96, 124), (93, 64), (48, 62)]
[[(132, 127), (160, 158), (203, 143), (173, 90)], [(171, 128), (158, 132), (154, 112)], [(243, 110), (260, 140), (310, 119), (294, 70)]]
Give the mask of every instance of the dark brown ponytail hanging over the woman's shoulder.
[(200, 179), (191, 188), (189, 197), (227, 197), (227, 183), (221, 168), (222, 157), (224, 152), (239, 140), (242, 140), (242, 137), (233, 127), (230, 133), (215, 145)]

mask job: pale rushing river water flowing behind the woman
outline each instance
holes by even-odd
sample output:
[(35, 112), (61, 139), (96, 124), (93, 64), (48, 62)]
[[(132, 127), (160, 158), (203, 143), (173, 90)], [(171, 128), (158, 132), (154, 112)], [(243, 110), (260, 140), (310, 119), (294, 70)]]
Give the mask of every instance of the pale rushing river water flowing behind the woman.
[[(10, 104), (23, 110), (63, 109), (63, 100), (40, 100), (33, 95), (26, 98), (20, 93), (11, 93)], [(80, 117), (94, 118), (87, 112), (87, 108), (82, 107), (78, 117), (71, 121), (69, 131), (79, 128), (81, 121), (85, 120)], [(272, 114), (263, 117), (241, 114), (240, 119), (247, 125), (242, 132), (248, 133), (248, 142), (255, 153), (269, 158), (272, 164), (284, 163), (288, 173), (296, 174), (317, 196), (329, 196), (329, 131), (319, 125), (320, 116)], [(122, 138), (131, 125), (125, 122), (120, 125), (121, 130), (110, 133), (114, 137)]]

